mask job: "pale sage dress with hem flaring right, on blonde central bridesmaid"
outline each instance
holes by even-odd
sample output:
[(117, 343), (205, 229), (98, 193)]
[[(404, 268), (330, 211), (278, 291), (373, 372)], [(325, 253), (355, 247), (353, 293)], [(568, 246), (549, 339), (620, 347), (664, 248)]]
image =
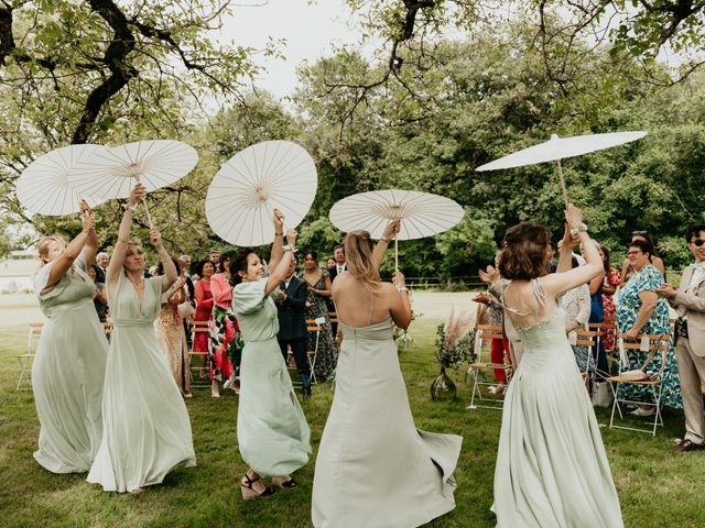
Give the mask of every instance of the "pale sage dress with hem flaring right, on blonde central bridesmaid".
[(425, 525), (455, 508), (453, 472), (463, 438), (416, 429), (391, 319), (338, 324), (344, 338), (316, 457), (313, 526)]

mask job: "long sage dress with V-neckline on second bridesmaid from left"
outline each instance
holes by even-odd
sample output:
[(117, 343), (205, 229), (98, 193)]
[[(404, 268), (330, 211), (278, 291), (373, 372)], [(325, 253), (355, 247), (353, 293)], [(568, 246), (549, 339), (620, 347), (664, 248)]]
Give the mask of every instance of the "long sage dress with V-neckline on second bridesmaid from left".
[(88, 482), (127, 492), (196, 465), (196, 455), (186, 406), (154, 333), (162, 277), (145, 280), (140, 301), (120, 273), (108, 298), (115, 329), (102, 392), (104, 436)]

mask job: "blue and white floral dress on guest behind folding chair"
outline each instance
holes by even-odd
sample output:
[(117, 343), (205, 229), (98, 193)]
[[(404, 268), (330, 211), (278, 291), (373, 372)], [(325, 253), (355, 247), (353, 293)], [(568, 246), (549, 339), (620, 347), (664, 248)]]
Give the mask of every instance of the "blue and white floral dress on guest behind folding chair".
[[(617, 328), (620, 333), (626, 332), (633, 327), (639, 309), (641, 308), (641, 299), (639, 294), (642, 292), (653, 292), (663, 282), (663, 275), (651, 264), (641, 268), (641, 271), (629, 279), (622, 289), (619, 290), (617, 297)], [(670, 328), (669, 305), (663, 297), (659, 297), (657, 308), (651, 318), (639, 330), (639, 333), (663, 334), (671, 333)], [(629, 350), (628, 370), (641, 369), (647, 361), (648, 354), (639, 350)], [(647, 371), (653, 372), (661, 369), (660, 355), (657, 353), (647, 366)], [(651, 397), (651, 388), (640, 385), (620, 385), (620, 398), (627, 398), (634, 402), (643, 402)], [(673, 350), (673, 341), (666, 358), (666, 365), (663, 370), (663, 392), (661, 403), (666, 407), (681, 408), (681, 386), (679, 381), (677, 363), (675, 360), (675, 351)]]

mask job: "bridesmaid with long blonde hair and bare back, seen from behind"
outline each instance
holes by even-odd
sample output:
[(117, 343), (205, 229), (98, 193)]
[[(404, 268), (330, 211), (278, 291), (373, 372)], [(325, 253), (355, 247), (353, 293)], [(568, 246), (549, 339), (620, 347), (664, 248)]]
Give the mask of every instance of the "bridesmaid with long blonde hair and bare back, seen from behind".
[(316, 528), (415, 527), (455, 507), (463, 439), (415, 428), (392, 331), (411, 322), (409, 293), (401, 272), (395, 286), (379, 275), (398, 232), (390, 222), (375, 249), (366, 231), (345, 238), (347, 273), (333, 283), (345, 339), (314, 472)]

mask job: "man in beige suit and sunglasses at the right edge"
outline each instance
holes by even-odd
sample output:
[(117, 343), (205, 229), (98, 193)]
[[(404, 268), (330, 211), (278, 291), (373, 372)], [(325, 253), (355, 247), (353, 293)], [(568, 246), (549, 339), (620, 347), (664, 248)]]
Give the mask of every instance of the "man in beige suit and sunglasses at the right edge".
[(685, 270), (677, 290), (666, 283), (655, 290), (679, 314), (674, 339), (685, 413), (685, 438), (671, 448), (676, 453), (705, 449), (701, 388), (705, 384), (705, 223), (691, 226), (685, 240), (695, 264)]

